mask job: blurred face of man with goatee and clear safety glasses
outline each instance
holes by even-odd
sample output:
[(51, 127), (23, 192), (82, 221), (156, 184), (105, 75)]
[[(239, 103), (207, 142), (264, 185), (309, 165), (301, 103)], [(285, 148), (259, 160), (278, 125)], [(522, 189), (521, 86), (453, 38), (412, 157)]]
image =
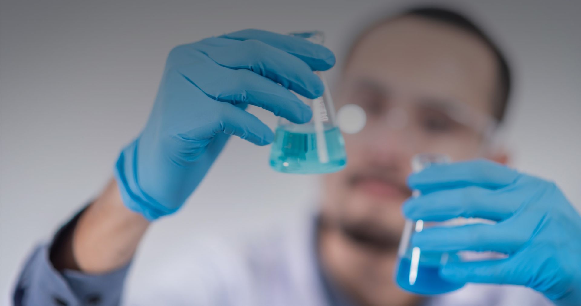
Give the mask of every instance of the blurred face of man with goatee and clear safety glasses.
[(365, 34), (346, 63), (338, 109), (352, 103), (367, 125), (344, 135), (345, 170), (324, 178), (323, 214), (356, 239), (394, 249), (411, 195), (410, 159), (422, 152), (452, 160), (479, 156), (482, 135), (450, 118), (456, 104), (490, 116), (496, 62), (483, 42), (437, 21), (402, 17)]

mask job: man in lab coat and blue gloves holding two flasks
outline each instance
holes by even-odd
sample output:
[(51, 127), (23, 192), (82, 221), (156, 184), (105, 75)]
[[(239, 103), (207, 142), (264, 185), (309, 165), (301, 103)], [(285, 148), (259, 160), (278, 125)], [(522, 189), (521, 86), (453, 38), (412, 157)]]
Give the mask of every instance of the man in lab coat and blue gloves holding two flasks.
[[(121, 150), (114, 179), (51, 243), (34, 250), (14, 304), (120, 304), (146, 229), (178, 213), (229, 136), (255, 145), (273, 141), (271, 129), (245, 107), (309, 121), (310, 108), (289, 89), (320, 96), (324, 86), (313, 71), (334, 64), (321, 45), (261, 30), (175, 47), (149, 120)], [(342, 71), (337, 106), (359, 106), (367, 124), (345, 135), (349, 163), (322, 178), (317, 216), (242, 249), (209, 244), (160, 260), (165, 265), (151, 273), (152, 286), (135, 289), (123, 303), (581, 305), (579, 213), (554, 183), (505, 167), (507, 157), (490, 141), (510, 85), (503, 54), (462, 15), (417, 8), (380, 20), (358, 35)], [(457, 162), (411, 174), (410, 159), (419, 152)], [(239, 161), (222, 162), (235, 169)], [(422, 195), (410, 198), (411, 189)], [(440, 277), (471, 283), (453, 293), (407, 293), (393, 276), (402, 210), (424, 221), (496, 221), (427, 228), (413, 237), (422, 250), (506, 256), (444, 264)], [(494, 286), (503, 284), (519, 286)]]

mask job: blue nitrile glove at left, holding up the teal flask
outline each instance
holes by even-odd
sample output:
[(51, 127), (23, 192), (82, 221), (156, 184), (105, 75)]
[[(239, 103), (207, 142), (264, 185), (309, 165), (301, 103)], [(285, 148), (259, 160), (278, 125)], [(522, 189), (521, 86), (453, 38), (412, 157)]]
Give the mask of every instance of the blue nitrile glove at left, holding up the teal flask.
[(148, 123), (116, 164), (125, 205), (149, 220), (174, 213), (229, 135), (256, 145), (272, 142), (270, 128), (246, 105), (305, 123), (311, 109), (288, 89), (307, 98), (322, 95), (324, 85), (313, 70), (333, 64), (335, 56), (324, 46), (260, 30), (175, 47)]

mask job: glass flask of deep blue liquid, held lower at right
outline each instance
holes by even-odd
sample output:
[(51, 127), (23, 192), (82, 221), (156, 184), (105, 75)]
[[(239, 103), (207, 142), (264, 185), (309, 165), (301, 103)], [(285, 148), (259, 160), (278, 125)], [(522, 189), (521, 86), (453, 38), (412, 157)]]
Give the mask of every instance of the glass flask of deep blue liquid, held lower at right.
[[(450, 158), (446, 154), (421, 153), (411, 160), (411, 168), (419, 172), (432, 164), (449, 164)], [(414, 197), (419, 196), (419, 190), (414, 190)], [(446, 222), (446, 221), (444, 221)], [(411, 244), (414, 233), (421, 232), (430, 226), (442, 225), (443, 222), (424, 222), (422, 220), (406, 220), (399, 249), (397, 250), (397, 285), (406, 291), (417, 294), (440, 294), (464, 286), (464, 283), (451, 283), (440, 278), (439, 271), (443, 264), (449, 261), (458, 261), (456, 253), (442, 253), (437, 251), (422, 251)]]

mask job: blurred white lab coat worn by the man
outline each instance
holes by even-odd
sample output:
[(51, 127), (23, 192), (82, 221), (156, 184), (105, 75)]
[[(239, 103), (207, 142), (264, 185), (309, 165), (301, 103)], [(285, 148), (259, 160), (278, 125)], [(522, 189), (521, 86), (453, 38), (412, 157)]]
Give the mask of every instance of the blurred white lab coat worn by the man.
[[(164, 259), (150, 285), (129, 290), (130, 306), (332, 306), (314, 257), (314, 218), (242, 247), (210, 240)], [(131, 286), (131, 285), (130, 285)], [(532, 289), (467, 285), (425, 306), (553, 305)]]

